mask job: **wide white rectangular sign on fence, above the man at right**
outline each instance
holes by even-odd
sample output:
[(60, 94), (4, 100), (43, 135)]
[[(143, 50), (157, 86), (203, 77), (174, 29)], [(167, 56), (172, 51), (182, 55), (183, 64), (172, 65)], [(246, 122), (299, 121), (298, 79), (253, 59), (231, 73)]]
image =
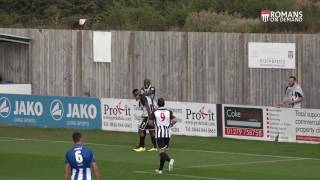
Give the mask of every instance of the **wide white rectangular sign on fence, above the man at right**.
[(249, 68), (295, 69), (295, 43), (248, 43)]

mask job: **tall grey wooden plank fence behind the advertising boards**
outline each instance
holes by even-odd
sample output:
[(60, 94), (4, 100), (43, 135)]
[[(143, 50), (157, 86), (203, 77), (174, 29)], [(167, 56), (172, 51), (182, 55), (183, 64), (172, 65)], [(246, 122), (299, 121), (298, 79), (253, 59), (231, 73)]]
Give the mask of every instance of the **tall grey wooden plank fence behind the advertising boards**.
[[(0, 73), (39, 95), (131, 98), (148, 77), (168, 100), (274, 105), (296, 75), (304, 107), (320, 108), (319, 34), (112, 32), (112, 63), (93, 62), (92, 31), (0, 29), (31, 37), (0, 43)], [(249, 69), (247, 43), (296, 43), (296, 70)]]

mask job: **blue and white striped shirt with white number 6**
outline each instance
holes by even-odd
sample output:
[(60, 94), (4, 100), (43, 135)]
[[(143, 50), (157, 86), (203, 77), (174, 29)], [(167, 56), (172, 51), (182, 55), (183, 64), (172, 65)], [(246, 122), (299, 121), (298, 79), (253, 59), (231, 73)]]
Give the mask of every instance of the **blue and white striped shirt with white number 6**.
[(65, 156), (65, 163), (72, 169), (71, 180), (91, 180), (91, 164), (96, 162), (92, 151), (76, 144)]

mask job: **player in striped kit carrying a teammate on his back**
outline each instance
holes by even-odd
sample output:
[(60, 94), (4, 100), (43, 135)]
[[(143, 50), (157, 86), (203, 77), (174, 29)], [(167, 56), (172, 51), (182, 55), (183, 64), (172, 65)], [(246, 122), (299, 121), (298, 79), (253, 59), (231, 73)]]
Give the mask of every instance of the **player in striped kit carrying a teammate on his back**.
[(145, 148), (145, 137), (146, 137), (146, 130), (149, 131), (151, 142), (153, 147), (148, 151), (157, 151), (156, 139), (155, 139), (155, 130), (154, 130), (154, 122), (149, 120), (149, 116), (151, 112), (154, 111), (153, 101), (149, 96), (144, 96), (141, 94), (141, 91), (138, 89), (134, 89), (132, 92), (133, 96), (137, 101), (139, 101), (139, 106), (142, 108), (142, 122), (139, 126), (138, 134), (140, 136), (139, 145), (133, 149), (136, 152), (144, 152), (146, 151)]

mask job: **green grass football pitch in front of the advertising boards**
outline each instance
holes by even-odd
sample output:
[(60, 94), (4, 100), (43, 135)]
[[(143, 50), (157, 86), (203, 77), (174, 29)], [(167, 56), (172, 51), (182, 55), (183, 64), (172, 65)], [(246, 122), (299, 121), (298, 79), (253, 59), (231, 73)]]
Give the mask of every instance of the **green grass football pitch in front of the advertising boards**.
[[(72, 146), (72, 132), (0, 127), (0, 180), (63, 179), (64, 154)], [(176, 160), (176, 169), (160, 176), (153, 173), (158, 168), (157, 153), (131, 151), (137, 134), (82, 133), (87, 142), (95, 143), (88, 146), (96, 155), (103, 180), (320, 179), (320, 145), (174, 136), (169, 154)], [(146, 142), (150, 147), (149, 137)]]

